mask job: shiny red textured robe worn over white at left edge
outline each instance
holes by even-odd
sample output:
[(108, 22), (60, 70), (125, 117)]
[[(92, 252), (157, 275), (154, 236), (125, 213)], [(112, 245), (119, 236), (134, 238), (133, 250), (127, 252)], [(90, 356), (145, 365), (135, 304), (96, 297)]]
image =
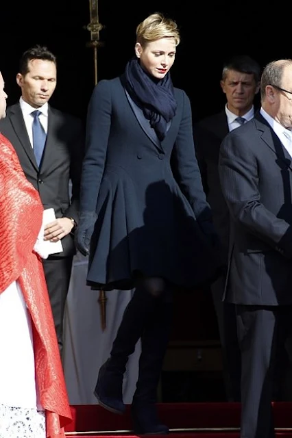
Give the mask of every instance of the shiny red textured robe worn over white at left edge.
[(12, 145), (0, 134), (0, 294), (19, 281), (32, 318), (36, 380), (46, 412), (47, 437), (63, 438), (71, 411), (42, 261), (34, 252), (42, 211), (38, 192), (27, 181)]

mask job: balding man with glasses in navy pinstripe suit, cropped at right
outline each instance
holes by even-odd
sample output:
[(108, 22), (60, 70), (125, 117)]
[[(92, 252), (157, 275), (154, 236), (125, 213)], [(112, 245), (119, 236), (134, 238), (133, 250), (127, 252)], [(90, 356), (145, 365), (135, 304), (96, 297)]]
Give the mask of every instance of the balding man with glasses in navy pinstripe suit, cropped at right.
[(269, 63), (260, 112), (224, 138), (219, 176), (230, 210), (224, 299), (236, 306), (241, 438), (274, 437), (274, 372), (292, 330), (292, 60)]

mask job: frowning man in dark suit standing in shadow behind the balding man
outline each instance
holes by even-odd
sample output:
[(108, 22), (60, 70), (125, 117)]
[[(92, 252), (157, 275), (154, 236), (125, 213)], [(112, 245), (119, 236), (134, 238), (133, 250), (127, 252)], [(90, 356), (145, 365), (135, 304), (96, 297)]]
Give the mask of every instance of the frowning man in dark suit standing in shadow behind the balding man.
[[(221, 240), (222, 261), (227, 266), (229, 211), (221, 192), (218, 159), (223, 138), (254, 117), (254, 98), (259, 90), (260, 66), (247, 55), (239, 55), (223, 66), (221, 88), (226, 106), (218, 114), (200, 120), (194, 126), (195, 151), (204, 190), (212, 208), (214, 225)], [(238, 117), (244, 120), (236, 120)], [(211, 286), (223, 353), (223, 379), (228, 401), (240, 400), (241, 360), (236, 337), (234, 306), (224, 303), (225, 276)]]

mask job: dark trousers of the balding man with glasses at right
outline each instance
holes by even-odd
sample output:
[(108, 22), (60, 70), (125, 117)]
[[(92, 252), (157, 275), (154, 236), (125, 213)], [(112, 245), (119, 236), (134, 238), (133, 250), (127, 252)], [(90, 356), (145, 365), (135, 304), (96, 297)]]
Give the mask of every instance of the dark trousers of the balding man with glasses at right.
[(236, 305), (241, 348), (241, 438), (274, 438), (273, 385), (292, 332), (292, 306)]

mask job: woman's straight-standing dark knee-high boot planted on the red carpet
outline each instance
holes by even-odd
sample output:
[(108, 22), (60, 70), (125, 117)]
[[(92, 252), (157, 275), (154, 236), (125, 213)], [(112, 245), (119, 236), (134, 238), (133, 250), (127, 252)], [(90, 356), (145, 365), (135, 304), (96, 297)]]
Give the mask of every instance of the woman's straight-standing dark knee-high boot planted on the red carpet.
[(172, 307), (171, 302), (161, 298), (141, 338), (138, 381), (132, 402), (134, 432), (140, 435), (169, 433), (169, 428), (158, 420), (156, 401), (169, 342)]

